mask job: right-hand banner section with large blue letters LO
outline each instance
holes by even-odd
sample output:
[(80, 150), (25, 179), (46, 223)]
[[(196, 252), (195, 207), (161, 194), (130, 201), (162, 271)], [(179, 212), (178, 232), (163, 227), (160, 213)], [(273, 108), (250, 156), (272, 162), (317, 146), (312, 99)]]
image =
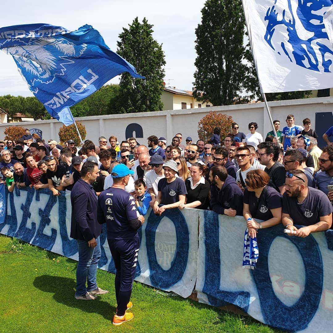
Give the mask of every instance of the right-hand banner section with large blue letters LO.
[(289, 237), (281, 224), (257, 235), (256, 268), (242, 269), (240, 216), (199, 212), (196, 290), (199, 302), (231, 303), (283, 331), (330, 332), (333, 314), (333, 231)]

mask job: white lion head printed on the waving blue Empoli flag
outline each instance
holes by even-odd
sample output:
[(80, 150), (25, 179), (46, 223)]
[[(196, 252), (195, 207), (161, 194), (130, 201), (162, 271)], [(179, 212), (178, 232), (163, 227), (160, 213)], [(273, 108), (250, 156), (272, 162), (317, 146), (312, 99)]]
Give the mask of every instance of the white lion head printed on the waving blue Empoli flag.
[[(13, 45), (13, 42), (17, 44)], [(33, 38), (28, 43), (8, 39), (3, 46), (6, 43), (10, 46), (4, 51), (13, 56), (19, 72), (34, 93), (38, 92), (38, 88), (34, 87), (36, 81), (49, 84), (56, 75), (64, 75), (64, 65), (74, 63), (73, 58), (81, 56), (87, 48), (86, 44), (75, 45), (64, 38), (52, 37)], [(58, 59), (61, 61), (57, 67)]]

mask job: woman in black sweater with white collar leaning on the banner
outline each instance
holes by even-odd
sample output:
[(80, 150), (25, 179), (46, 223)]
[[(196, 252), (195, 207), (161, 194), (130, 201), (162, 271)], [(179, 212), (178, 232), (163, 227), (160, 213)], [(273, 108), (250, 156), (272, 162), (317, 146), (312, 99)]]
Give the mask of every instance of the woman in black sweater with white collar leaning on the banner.
[(193, 163), (190, 169), (190, 177), (185, 180), (187, 190), (186, 204), (180, 203), (179, 208), (207, 209), (209, 182), (203, 176), (204, 166), (200, 163)]

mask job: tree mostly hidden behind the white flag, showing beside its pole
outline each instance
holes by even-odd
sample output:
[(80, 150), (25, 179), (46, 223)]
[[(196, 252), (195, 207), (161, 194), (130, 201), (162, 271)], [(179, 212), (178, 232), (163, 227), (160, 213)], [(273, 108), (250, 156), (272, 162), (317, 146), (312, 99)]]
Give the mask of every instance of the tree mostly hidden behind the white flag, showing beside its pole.
[[(246, 75), (244, 76), (244, 91), (249, 95), (243, 98), (243, 103), (249, 102), (254, 99), (263, 102), (257, 71), (255, 69), (252, 57), (250, 42), (248, 42), (246, 45), (244, 59), (247, 62)], [(268, 102), (294, 100), (308, 98), (311, 95), (311, 90), (289, 91), (284, 93), (268, 93), (265, 95)]]

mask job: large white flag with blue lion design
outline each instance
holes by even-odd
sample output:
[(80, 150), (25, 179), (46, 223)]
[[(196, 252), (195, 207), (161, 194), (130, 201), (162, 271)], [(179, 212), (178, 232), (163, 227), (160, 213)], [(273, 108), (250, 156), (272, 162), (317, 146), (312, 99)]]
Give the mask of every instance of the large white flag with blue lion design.
[(333, 87), (333, 47), (323, 23), (332, 0), (242, 1), (262, 93)]

